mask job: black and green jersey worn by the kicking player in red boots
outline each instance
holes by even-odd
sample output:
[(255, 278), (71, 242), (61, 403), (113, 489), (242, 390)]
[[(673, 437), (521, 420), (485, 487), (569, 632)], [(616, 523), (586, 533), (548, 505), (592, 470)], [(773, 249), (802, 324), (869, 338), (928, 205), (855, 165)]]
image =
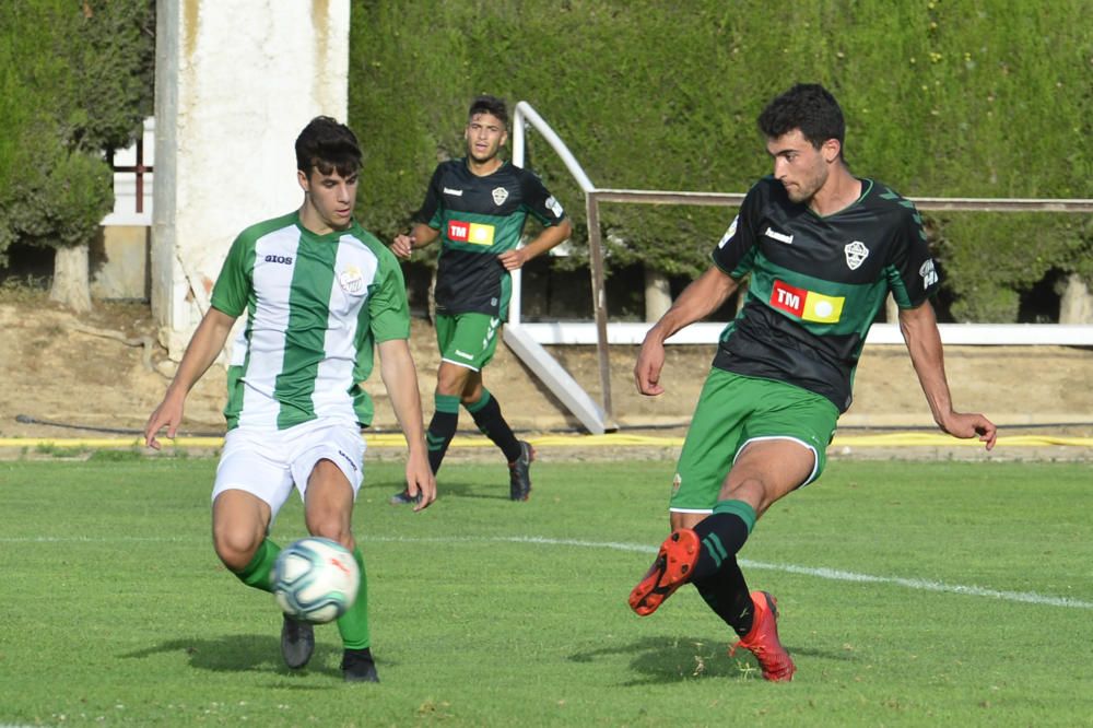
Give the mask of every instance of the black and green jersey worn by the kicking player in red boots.
[(821, 218), (791, 202), (773, 177), (748, 192), (713, 259), (734, 279), (751, 274), (714, 366), (777, 379), (850, 407), (866, 333), (892, 292), (901, 308), (938, 290), (938, 269), (914, 203), (861, 179), (861, 197)]

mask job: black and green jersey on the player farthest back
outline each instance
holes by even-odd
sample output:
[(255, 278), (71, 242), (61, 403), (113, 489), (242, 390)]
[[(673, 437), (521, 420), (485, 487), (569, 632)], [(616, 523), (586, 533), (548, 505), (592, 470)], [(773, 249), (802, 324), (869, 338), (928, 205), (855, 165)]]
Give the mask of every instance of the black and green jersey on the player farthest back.
[(508, 162), (484, 177), (466, 158), (437, 165), (414, 215), (440, 233), (437, 313), (505, 317), (512, 277), (497, 256), (517, 246), (529, 214), (545, 226), (565, 219), (534, 173)]

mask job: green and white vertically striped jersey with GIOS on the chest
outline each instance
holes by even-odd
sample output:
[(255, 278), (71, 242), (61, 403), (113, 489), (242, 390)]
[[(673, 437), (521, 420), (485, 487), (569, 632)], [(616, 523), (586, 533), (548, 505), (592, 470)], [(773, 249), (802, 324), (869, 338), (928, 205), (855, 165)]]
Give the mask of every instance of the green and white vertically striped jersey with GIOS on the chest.
[(398, 259), (354, 222), (316, 235), (296, 212), (232, 244), (212, 306), (247, 314), (227, 377), (227, 427), (284, 430), (319, 418), (367, 425), (376, 343), (410, 336)]

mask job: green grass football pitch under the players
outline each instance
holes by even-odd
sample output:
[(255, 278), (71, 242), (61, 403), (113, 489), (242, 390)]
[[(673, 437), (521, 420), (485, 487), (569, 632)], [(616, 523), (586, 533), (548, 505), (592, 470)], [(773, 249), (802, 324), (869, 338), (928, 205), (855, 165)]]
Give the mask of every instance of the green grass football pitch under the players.
[[(741, 553), (798, 666), (772, 684), (690, 587), (626, 606), (672, 462), (542, 455), (529, 503), (449, 462), (421, 514), (367, 462), (379, 684), (342, 681), (333, 625), (282, 665), (272, 597), (212, 551), (215, 460), (2, 462), (0, 725), (1093, 725), (1088, 465), (832, 461)], [(303, 535), (293, 498), (273, 537)]]

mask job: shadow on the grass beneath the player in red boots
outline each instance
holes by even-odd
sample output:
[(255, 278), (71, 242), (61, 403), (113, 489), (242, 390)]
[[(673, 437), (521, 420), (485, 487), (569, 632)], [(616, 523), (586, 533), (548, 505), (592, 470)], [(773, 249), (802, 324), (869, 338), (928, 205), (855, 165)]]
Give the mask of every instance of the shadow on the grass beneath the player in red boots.
[[(685, 680), (734, 679), (762, 681), (755, 657), (747, 649), (729, 656), (729, 644), (724, 636), (701, 637), (643, 637), (635, 642), (612, 647), (578, 651), (569, 656), (572, 662), (595, 662), (599, 657), (633, 655), (630, 667), (636, 673), (622, 686), (640, 686), (683, 682)], [(849, 660), (847, 654), (824, 653), (815, 649), (796, 649), (786, 645), (791, 654)]]

